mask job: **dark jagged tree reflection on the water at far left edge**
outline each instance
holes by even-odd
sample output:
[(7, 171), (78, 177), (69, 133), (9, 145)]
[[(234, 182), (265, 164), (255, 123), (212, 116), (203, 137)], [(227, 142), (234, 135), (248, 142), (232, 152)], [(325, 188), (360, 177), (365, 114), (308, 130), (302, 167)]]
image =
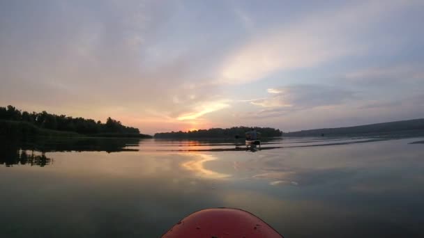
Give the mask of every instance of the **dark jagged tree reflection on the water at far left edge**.
[(13, 165), (22, 164), (30, 166), (47, 166), (52, 163), (52, 159), (45, 156), (45, 153), (27, 154), (26, 150), (21, 150), (17, 143), (1, 143), (0, 145), (0, 164), (6, 167), (13, 167)]

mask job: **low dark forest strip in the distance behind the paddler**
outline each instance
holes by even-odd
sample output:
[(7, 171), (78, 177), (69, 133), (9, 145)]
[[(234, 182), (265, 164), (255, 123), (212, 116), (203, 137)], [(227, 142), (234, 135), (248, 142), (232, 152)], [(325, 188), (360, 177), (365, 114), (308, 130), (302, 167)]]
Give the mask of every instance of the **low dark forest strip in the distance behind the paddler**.
[[(190, 132), (165, 132), (156, 133), (155, 138), (234, 138), (234, 136), (244, 138), (245, 132), (249, 132), (251, 129), (252, 127), (231, 127), (199, 129)], [(282, 134), (280, 129), (271, 127), (255, 127), (255, 129), (262, 137), (275, 137)]]

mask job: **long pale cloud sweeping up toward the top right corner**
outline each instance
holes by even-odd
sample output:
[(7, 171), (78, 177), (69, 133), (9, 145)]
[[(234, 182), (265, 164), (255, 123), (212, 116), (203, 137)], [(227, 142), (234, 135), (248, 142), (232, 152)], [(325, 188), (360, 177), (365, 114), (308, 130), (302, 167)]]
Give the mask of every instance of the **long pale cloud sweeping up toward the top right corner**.
[(315, 13), (287, 26), (257, 32), (257, 37), (235, 49), (222, 64), (225, 84), (242, 84), (280, 70), (310, 68), (342, 56), (365, 54), (372, 42), (356, 40), (391, 10), (412, 1), (366, 1)]

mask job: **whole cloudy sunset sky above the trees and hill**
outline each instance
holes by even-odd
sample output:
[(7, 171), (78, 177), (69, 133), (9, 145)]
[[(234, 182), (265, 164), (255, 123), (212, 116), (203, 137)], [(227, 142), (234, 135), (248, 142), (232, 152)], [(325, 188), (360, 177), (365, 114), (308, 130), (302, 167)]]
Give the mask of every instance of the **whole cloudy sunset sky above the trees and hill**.
[(0, 106), (142, 133), (424, 118), (424, 1), (1, 0)]

